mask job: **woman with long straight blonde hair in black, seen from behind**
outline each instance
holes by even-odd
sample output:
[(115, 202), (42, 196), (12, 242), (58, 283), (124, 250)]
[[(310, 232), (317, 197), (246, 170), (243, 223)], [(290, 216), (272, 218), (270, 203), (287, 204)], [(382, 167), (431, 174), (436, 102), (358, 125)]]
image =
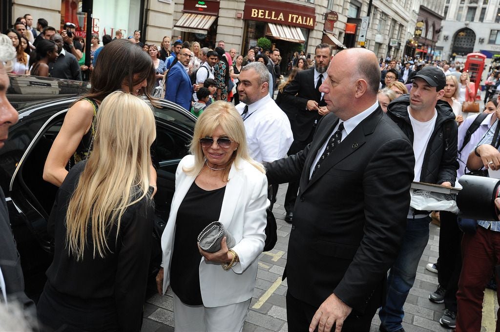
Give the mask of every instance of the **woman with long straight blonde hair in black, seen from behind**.
[(38, 319), (54, 330), (139, 331), (154, 217), (154, 116), (145, 100), (116, 91), (102, 100), (96, 126), (90, 156), (71, 167), (50, 214), (54, 259)]

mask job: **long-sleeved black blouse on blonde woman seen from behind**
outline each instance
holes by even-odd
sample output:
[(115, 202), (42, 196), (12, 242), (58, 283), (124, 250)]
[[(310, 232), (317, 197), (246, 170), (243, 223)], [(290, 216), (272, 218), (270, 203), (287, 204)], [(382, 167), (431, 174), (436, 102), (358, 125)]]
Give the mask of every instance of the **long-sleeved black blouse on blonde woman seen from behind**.
[[(67, 204), (86, 161), (71, 168), (62, 182), (48, 220), (48, 233), (55, 235), (54, 259), (47, 269), (47, 283), (66, 300), (88, 314), (89, 303), (113, 303), (120, 331), (140, 330), (154, 219), (152, 202), (143, 198), (129, 206), (121, 218), (118, 237), (116, 225), (107, 233), (105, 257), (93, 257), (92, 236), (87, 234), (83, 259), (76, 261), (65, 245)], [(75, 305), (81, 303), (81, 306)]]

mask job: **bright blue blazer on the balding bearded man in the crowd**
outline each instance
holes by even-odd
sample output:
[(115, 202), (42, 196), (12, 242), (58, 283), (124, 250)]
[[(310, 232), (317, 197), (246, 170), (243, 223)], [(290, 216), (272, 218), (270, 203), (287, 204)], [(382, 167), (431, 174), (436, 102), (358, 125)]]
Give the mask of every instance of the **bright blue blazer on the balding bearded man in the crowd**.
[(191, 108), (192, 85), (191, 79), (184, 66), (177, 62), (168, 70), (166, 75), (165, 99), (189, 110)]

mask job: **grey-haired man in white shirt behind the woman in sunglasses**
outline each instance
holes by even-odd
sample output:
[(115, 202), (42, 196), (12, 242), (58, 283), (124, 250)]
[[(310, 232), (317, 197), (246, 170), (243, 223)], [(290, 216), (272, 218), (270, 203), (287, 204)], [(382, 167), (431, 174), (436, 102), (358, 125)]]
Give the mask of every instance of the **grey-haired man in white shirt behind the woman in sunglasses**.
[[(239, 101), (236, 110), (241, 114), (250, 153), (258, 162), (274, 161), (286, 156), (292, 141), (290, 121), (276, 102), (269, 96), (267, 67), (260, 62), (250, 62), (239, 73)], [(269, 200), (276, 201), (277, 185), (272, 186)]]

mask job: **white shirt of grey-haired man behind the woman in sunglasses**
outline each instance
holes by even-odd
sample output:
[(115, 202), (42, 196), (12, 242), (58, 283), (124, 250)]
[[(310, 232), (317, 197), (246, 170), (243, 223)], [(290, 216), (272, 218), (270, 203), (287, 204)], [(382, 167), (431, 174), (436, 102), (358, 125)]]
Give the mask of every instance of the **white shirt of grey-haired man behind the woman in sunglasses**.
[[(244, 107), (243, 102), (236, 105), (239, 114), (243, 113)], [(253, 159), (274, 161), (286, 156), (293, 141), (290, 121), (268, 94), (248, 105), (248, 115), (243, 123)]]

